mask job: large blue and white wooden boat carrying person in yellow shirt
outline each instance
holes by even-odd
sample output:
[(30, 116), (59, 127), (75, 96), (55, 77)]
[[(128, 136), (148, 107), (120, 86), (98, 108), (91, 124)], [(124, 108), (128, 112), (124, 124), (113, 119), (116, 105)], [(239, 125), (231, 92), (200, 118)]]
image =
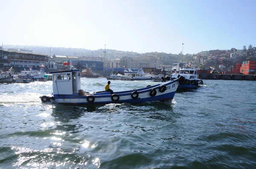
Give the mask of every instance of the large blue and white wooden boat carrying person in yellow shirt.
[(69, 70), (50, 72), (52, 74), (51, 96), (40, 96), (42, 102), (62, 104), (111, 104), (111, 103), (140, 103), (148, 101), (170, 101), (178, 87), (178, 79), (163, 82), (140, 89), (125, 91), (84, 92), (81, 89), (79, 70), (71, 67)]

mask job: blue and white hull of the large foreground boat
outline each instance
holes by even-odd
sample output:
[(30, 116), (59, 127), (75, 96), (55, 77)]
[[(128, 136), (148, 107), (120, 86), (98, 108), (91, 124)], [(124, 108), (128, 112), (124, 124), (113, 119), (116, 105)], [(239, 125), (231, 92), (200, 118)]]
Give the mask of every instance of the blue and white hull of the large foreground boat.
[[(141, 103), (148, 101), (171, 101), (175, 96), (179, 83), (178, 80), (164, 82), (154, 86), (149, 86), (141, 89), (128, 90), (122, 92), (100, 92), (93, 93), (87, 96), (72, 95), (58, 95), (55, 94), (55, 103), (64, 104), (111, 104), (111, 103)], [(165, 86), (165, 87), (164, 87)], [(160, 90), (166, 88), (163, 92)], [(153, 92), (152, 92), (153, 91)], [(156, 93), (154, 93), (156, 92)], [(132, 94), (134, 93), (134, 94)], [(155, 94), (155, 96), (154, 96)], [(90, 100), (88, 99), (90, 97)]]

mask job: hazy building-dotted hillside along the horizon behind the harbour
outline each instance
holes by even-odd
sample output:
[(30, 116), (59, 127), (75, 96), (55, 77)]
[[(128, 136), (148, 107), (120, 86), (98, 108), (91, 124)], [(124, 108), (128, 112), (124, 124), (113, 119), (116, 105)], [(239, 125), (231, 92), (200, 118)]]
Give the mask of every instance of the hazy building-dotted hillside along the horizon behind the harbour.
[[(134, 60), (159, 60), (160, 68), (172, 68), (175, 63), (183, 61), (186, 65), (195, 65), (197, 68), (211, 69), (215, 68), (218, 71), (233, 71), (233, 66), (236, 63), (241, 63), (247, 60), (256, 60), (256, 47), (249, 45), (248, 48), (243, 46), (243, 49), (226, 49), (226, 50), (210, 50), (201, 51), (197, 54), (166, 54), (159, 52), (137, 53), (133, 51), (117, 51), (113, 49), (98, 49), (88, 50), (84, 48), (56, 48), (45, 46), (30, 46), (30, 45), (4, 45), (4, 50), (8, 51), (31, 51), (33, 54), (45, 54), (47, 56), (77, 56), (77, 57), (101, 57), (106, 61), (121, 59), (122, 57), (130, 57)], [(122, 68), (122, 65), (120, 65)]]

